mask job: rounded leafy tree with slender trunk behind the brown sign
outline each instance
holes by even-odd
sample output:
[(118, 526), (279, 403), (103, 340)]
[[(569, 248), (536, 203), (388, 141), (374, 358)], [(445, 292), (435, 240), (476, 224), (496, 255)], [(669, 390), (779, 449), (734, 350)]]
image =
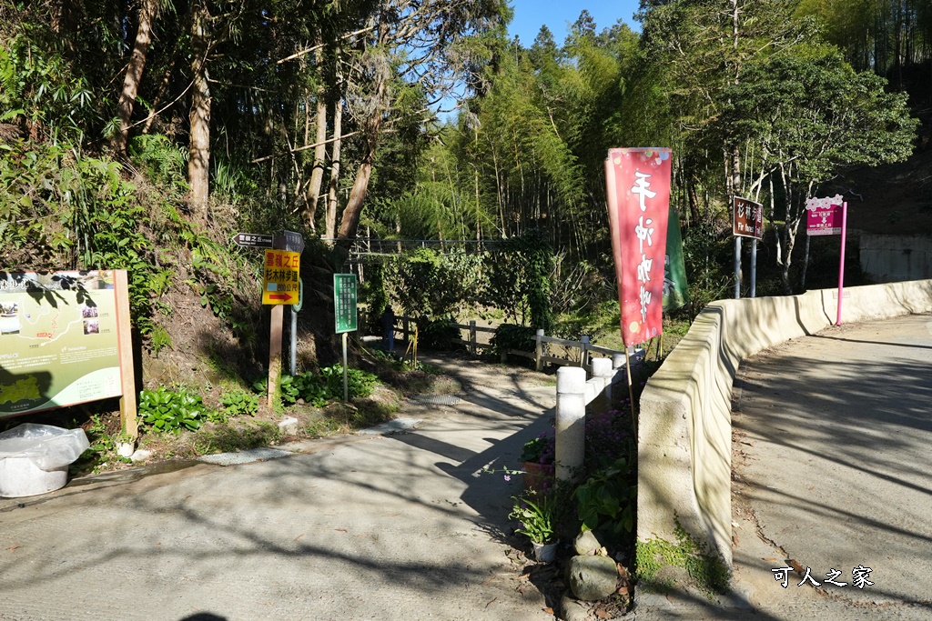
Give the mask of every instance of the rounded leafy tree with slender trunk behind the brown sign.
[(912, 152), (917, 121), (906, 96), (888, 93), (884, 78), (856, 73), (833, 50), (781, 53), (747, 65), (727, 91), (725, 116), (752, 152), (748, 190), (768, 182), (777, 236), (777, 263), (787, 292), (789, 268), (805, 200), (842, 169), (899, 162)]

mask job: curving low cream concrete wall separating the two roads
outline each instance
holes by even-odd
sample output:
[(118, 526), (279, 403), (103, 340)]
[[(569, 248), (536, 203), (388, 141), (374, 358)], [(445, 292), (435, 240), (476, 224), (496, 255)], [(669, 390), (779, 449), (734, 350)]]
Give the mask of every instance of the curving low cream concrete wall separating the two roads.
[[(709, 304), (640, 398), (637, 540), (677, 524), (732, 564), (732, 385), (741, 361), (835, 321), (837, 290)], [(932, 280), (844, 290), (843, 323), (932, 310)]]

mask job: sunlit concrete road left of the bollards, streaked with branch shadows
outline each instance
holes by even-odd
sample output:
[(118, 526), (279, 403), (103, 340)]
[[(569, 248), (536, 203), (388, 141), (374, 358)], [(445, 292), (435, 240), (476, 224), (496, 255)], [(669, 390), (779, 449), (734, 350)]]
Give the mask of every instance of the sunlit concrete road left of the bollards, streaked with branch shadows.
[(514, 466), (555, 388), (463, 364), (463, 400), (406, 408), (410, 433), (0, 499), (0, 619), (552, 619), (516, 579), (514, 482), (476, 473)]

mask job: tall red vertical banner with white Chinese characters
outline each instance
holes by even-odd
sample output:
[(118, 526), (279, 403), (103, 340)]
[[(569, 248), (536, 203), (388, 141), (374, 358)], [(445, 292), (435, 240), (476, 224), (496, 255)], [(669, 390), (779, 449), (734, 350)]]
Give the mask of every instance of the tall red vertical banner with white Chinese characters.
[(622, 339), (636, 345), (664, 329), (664, 257), (670, 149), (610, 149), (605, 161), (611, 250)]

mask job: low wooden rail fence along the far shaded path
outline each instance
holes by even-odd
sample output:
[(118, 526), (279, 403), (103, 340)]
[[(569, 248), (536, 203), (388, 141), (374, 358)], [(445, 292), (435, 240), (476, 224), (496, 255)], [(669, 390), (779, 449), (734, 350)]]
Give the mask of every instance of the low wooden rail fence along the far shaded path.
[[(414, 333), (412, 326), (413, 323), (413, 317), (397, 317), (395, 331), (400, 331), (402, 333), (402, 339), (404, 341), (407, 341), (410, 338), (410, 335)], [(464, 345), (470, 355), (478, 356), (480, 350), (491, 349), (491, 344), (480, 343), (476, 335), (479, 333), (494, 334), (494, 328), (483, 328), (477, 326), (474, 319), (471, 320), (468, 324), (457, 323), (453, 325), (460, 331), (460, 338), (455, 339), (453, 343)], [(462, 338), (463, 331), (467, 332), (466, 338)], [(550, 345), (557, 345), (565, 348), (567, 350), (567, 356), (552, 356)], [(579, 351), (570, 354), (572, 350)], [(622, 359), (624, 359), (624, 351), (592, 344), (589, 341), (589, 336), (585, 334), (583, 334), (582, 340), (580, 341), (570, 341), (568, 339), (558, 339), (555, 336), (546, 336), (542, 330), (538, 330), (534, 335), (534, 351), (508, 349), (506, 351), (500, 352), (502, 362), (504, 362), (505, 358), (508, 356), (520, 356), (522, 358), (529, 358), (534, 360), (534, 368), (537, 369), (537, 371), (543, 370), (543, 365), (547, 363), (561, 367), (581, 367), (588, 370), (590, 369), (590, 358), (593, 354), (598, 354), (605, 358), (614, 358), (616, 356), (620, 356)], [(615, 360), (615, 362), (615, 366), (618, 366), (618, 360)]]

